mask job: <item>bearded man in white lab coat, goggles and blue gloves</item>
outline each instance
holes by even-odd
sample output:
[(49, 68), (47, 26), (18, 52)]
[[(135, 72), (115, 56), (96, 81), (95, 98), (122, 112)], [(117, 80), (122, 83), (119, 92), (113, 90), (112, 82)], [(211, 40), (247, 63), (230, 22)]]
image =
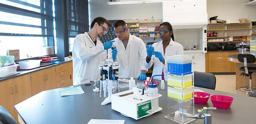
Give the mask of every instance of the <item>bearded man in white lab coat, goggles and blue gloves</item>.
[(99, 38), (107, 33), (110, 22), (103, 17), (94, 18), (90, 31), (78, 34), (74, 40), (73, 56), (73, 85), (99, 80), (98, 65), (104, 62), (113, 41), (101, 43)]

